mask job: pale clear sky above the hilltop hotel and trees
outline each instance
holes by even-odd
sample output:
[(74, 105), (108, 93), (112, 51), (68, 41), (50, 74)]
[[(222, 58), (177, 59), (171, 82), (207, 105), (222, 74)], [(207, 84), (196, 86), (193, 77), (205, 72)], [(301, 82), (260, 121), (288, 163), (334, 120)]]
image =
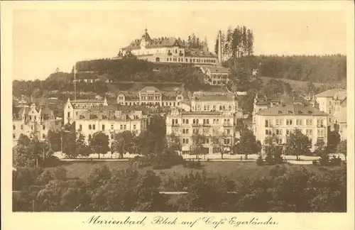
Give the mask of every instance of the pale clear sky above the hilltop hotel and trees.
[(217, 31), (237, 25), (253, 30), (255, 55), (346, 54), (344, 11), (15, 11), (13, 79), (44, 80), (57, 67), (114, 57), (146, 28), (151, 38), (206, 36), (213, 51)]

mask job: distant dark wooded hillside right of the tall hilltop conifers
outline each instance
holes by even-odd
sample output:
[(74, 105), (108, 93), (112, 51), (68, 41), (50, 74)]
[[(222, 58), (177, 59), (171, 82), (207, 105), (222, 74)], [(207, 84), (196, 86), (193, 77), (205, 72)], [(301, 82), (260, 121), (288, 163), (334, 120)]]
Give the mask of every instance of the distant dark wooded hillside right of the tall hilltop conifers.
[[(243, 67), (249, 74), (284, 80), (326, 84), (346, 84), (346, 56), (248, 56), (224, 63), (228, 67)], [(295, 82), (290, 82), (293, 84)]]

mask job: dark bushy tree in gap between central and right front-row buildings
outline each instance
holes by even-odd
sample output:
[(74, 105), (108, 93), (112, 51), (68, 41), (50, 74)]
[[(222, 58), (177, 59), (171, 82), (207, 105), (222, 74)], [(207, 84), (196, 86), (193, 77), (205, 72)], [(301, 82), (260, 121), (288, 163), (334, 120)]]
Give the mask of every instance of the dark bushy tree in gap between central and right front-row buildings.
[(256, 141), (253, 131), (244, 128), (241, 130), (241, 138), (236, 145), (236, 149), (244, 153), (245, 158), (248, 159), (249, 154), (258, 153), (261, 150), (260, 144)]

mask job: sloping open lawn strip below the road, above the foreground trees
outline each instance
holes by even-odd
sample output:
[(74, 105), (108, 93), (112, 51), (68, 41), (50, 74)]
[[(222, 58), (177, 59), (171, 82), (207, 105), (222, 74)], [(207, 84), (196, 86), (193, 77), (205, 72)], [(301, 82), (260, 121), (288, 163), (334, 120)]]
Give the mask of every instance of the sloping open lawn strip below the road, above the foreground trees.
[[(151, 167), (147, 168), (133, 168), (127, 161), (92, 161), (92, 162), (65, 162), (63, 167), (67, 170), (68, 177), (79, 177), (85, 179), (87, 175), (94, 169), (94, 167), (99, 167), (100, 165), (107, 165), (109, 169), (114, 172), (117, 169), (128, 169), (139, 170), (141, 172), (146, 170), (153, 170)], [(184, 168), (182, 165), (176, 165), (173, 168), (168, 168), (164, 170), (153, 170), (157, 175), (160, 175), (163, 180), (167, 180), (168, 176), (175, 177), (175, 175), (188, 175), (190, 172), (202, 172), (205, 170), (207, 175), (211, 177), (218, 177), (219, 175), (226, 175), (232, 180), (238, 180), (239, 178), (249, 179), (263, 177), (269, 175), (273, 168), (277, 165), (264, 165), (258, 166), (255, 162), (231, 162), (231, 161), (209, 161), (202, 162), (202, 167), (200, 169), (190, 169)], [(288, 165), (283, 164), (280, 167), (286, 170), (296, 171), (305, 168), (310, 172), (324, 173), (329, 170), (334, 170), (337, 167), (317, 167), (314, 165)], [(48, 168), (53, 170), (53, 168)]]

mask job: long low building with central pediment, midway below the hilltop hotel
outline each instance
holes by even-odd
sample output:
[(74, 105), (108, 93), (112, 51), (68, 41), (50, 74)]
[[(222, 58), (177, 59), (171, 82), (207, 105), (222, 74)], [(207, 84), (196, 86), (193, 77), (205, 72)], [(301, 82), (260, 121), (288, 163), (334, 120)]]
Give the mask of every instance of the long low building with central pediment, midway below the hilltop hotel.
[(143, 105), (143, 106), (169, 106), (190, 110), (185, 103), (187, 95), (182, 89), (172, 92), (161, 91), (155, 87), (147, 86), (138, 92), (121, 91), (117, 95), (117, 104), (121, 105)]

